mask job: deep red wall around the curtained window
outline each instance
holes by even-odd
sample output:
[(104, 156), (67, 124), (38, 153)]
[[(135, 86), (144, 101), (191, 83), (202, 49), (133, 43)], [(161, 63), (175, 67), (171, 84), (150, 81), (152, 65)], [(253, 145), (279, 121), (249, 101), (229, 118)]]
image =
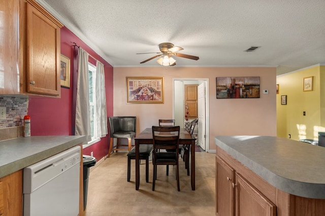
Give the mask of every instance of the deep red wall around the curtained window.
[[(92, 57), (104, 64), (107, 116), (113, 115), (113, 66), (90, 49), (68, 28), (61, 28), (61, 54), (70, 58), (70, 87), (73, 80), (73, 43), (87, 51)], [(91, 62), (95, 64), (95, 62)], [(31, 136), (61, 136), (72, 135), (71, 131), (72, 88), (61, 87), (61, 98), (46, 98), (30, 96), (27, 113), (31, 119)], [(109, 134), (100, 142), (85, 148), (83, 154), (100, 160), (108, 154)]]

